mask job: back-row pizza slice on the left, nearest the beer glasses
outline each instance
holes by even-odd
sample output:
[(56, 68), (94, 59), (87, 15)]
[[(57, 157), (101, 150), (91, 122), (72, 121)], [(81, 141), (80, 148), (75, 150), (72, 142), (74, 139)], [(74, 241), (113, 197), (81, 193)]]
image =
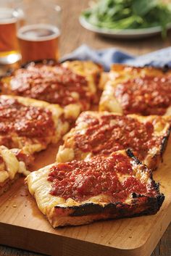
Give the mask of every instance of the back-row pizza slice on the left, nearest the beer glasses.
[(96, 98), (101, 67), (93, 62), (30, 62), (1, 79), (1, 94), (59, 104), (75, 120)]

